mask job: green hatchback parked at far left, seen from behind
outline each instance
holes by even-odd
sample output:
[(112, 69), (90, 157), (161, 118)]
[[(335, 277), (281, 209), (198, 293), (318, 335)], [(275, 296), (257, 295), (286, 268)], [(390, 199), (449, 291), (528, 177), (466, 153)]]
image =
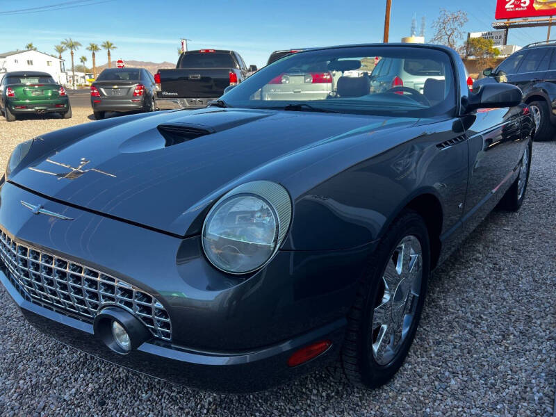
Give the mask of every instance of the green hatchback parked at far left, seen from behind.
[(60, 113), (72, 117), (70, 100), (62, 85), (46, 72), (6, 72), (0, 81), (0, 113), (13, 122), (26, 113)]

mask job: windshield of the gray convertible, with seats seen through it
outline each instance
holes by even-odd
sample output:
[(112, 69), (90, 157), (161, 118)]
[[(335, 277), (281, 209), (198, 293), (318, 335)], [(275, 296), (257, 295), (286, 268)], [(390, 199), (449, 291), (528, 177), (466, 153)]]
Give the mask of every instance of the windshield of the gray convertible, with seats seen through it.
[(231, 107), (431, 117), (455, 108), (450, 57), (423, 47), (343, 47), (277, 60), (222, 100)]

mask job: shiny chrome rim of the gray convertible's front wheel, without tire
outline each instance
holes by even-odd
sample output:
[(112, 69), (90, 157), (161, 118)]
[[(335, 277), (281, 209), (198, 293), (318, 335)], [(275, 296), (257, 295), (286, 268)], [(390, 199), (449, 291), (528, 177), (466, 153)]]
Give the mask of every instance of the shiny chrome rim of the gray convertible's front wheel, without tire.
[(423, 278), (423, 251), (416, 236), (405, 236), (391, 254), (373, 311), (375, 361), (388, 365), (407, 338), (417, 309)]

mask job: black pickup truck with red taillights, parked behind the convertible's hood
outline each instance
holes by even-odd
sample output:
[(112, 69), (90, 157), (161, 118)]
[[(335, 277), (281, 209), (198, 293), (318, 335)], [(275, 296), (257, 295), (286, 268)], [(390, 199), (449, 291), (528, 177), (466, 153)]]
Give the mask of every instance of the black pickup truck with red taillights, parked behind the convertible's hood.
[(158, 70), (156, 108), (201, 108), (208, 101), (218, 99), (224, 88), (236, 85), (256, 71), (247, 68), (236, 51), (200, 49), (179, 56), (174, 70)]

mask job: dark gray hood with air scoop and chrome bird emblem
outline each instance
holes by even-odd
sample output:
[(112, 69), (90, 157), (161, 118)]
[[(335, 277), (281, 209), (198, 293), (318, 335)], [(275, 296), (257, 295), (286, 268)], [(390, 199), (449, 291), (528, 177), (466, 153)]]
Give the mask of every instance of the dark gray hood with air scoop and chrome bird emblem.
[(230, 108), (124, 119), (62, 141), (18, 167), (9, 180), (67, 204), (184, 236), (191, 216), (183, 213), (197, 210), (199, 202), (207, 206), (207, 196), (222, 195), (270, 161), (310, 152), (329, 138), (360, 134), (366, 126), (376, 131), (416, 122)]

